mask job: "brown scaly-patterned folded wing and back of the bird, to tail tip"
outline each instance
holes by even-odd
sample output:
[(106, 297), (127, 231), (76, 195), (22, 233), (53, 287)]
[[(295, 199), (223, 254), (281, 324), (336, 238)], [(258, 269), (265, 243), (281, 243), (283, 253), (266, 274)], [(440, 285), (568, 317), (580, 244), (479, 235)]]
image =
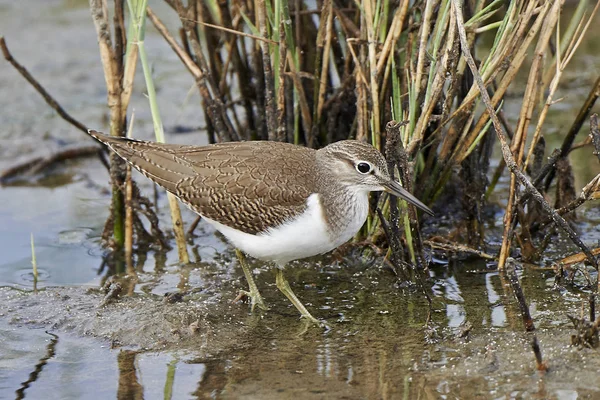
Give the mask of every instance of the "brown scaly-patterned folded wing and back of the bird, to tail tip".
[(293, 219), (314, 190), (307, 165), (313, 165), (315, 151), (307, 148), (277, 142), (186, 146), (90, 135), (192, 210), (250, 234)]

